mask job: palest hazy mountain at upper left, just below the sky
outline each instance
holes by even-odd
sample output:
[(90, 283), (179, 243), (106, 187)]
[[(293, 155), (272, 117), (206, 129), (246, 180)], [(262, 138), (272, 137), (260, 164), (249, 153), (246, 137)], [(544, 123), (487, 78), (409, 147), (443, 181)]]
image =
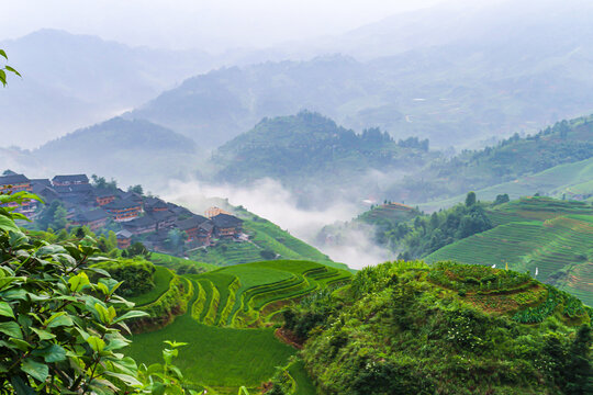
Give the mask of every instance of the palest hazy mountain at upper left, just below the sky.
[(0, 97), (2, 145), (27, 148), (123, 113), (213, 66), (200, 50), (128, 47), (57, 30), (1, 41), (0, 48), (23, 76)]

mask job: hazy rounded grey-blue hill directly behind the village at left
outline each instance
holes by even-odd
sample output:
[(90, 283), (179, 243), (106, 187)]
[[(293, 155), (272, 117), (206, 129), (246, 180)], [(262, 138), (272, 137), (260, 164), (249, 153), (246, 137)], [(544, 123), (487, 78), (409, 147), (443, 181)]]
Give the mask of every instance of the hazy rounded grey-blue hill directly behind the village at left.
[(201, 160), (193, 140), (143, 120), (115, 117), (31, 151), (45, 173), (96, 173), (155, 188), (184, 179)]

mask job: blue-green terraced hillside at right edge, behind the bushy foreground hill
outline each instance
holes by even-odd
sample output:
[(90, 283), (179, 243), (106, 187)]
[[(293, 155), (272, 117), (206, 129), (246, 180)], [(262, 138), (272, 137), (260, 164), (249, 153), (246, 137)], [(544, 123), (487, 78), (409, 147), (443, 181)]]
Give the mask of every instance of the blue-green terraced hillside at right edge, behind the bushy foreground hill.
[[(593, 305), (593, 207), (583, 202), (524, 199), (489, 213), (488, 232), (445, 246), (427, 262), (456, 260), (519, 272)], [(590, 215), (585, 215), (589, 213)]]

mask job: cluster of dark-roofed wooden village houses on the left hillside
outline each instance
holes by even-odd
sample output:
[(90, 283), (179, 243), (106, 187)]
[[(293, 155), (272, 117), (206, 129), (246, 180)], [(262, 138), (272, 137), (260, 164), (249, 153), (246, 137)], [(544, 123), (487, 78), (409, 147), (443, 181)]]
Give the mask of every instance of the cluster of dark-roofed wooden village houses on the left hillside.
[[(158, 198), (144, 196), (121, 189), (93, 187), (86, 174), (56, 176), (49, 179), (29, 179), (9, 173), (0, 177), (0, 193), (27, 191), (49, 205), (59, 201), (67, 211), (68, 226), (88, 226), (98, 232), (112, 225), (119, 232), (118, 246), (127, 248), (134, 237), (153, 250), (166, 250), (169, 232), (177, 228), (184, 233), (189, 247), (211, 246), (215, 239), (242, 236), (243, 221), (212, 207), (205, 215)], [(41, 212), (35, 201), (25, 202), (18, 210), (34, 219)]]

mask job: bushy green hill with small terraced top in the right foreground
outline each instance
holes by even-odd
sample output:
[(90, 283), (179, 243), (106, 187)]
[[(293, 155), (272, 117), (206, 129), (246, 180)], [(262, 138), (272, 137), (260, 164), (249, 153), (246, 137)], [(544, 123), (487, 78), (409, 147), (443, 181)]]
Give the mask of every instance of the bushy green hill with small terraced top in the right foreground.
[(584, 394), (592, 314), (526, 274), (400, 261), (296, 306), (286, 328), (306, 339), (318, 394)]

